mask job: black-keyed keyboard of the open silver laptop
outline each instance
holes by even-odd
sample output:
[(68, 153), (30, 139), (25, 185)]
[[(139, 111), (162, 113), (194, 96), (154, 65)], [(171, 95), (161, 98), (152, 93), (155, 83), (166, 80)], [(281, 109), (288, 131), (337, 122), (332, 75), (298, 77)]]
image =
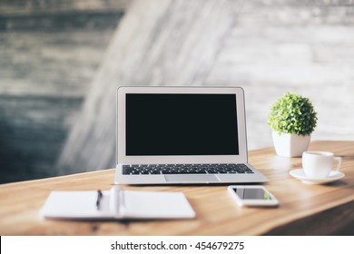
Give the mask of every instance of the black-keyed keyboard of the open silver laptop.
[(124, 175), (138, 174), (250, 174), (245, 164), (151, 164), (123, 165)]

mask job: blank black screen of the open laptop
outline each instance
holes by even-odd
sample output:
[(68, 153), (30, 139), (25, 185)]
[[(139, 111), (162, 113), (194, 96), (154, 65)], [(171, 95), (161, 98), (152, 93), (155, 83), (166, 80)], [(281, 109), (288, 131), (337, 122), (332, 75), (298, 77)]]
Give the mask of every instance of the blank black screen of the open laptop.
[(239, 154), (235, 94), (126, 94), (126, 155)]

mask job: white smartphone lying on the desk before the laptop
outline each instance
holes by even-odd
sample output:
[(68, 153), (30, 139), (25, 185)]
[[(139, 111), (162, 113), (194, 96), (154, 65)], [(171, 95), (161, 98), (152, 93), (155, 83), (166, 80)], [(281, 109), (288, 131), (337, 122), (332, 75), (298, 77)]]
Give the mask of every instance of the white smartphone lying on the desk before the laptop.
[(231, 185), (228, 191), (239, 206), (275, 207), (279, 205), (279, 201), (261, 185)]

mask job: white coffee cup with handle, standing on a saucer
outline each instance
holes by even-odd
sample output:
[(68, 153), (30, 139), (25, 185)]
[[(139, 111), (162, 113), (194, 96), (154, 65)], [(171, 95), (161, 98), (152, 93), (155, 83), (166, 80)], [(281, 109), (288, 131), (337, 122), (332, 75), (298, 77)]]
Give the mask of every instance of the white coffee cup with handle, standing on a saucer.
[(302, 153), (302, 168), (305, 175), (312, 179), (324, 179), (329, 177), (332, 171), (333, 162), (338, 161), (337, 168), (339, 171), (341, 158), (335, 157), (330, 151), (304, 151)]

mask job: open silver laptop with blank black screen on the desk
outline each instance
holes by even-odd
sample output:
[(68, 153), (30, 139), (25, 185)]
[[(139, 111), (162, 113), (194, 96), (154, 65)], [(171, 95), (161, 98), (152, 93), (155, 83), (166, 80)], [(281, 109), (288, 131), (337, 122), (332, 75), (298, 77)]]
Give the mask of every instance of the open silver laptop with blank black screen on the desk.
[(248, 163), (241, 87), (117, 89), (119, 184), (265, 182)]

